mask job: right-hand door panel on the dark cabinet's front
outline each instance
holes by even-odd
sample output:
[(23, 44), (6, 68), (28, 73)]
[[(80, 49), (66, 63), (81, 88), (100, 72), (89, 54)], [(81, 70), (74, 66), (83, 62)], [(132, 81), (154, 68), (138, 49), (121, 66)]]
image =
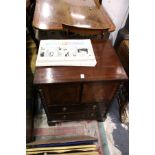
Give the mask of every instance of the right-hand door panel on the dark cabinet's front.
[(84, 83), (82, 103), (110, 101), (118, 88), (118, 82)]

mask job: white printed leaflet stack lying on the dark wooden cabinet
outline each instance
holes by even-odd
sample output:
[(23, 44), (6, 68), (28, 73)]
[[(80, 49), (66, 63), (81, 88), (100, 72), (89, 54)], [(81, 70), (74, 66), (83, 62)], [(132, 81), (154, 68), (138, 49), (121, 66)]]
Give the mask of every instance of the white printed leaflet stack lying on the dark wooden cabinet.
[(36, 66), (95, 66), (96, 58), (89, 39), (41, 40)]

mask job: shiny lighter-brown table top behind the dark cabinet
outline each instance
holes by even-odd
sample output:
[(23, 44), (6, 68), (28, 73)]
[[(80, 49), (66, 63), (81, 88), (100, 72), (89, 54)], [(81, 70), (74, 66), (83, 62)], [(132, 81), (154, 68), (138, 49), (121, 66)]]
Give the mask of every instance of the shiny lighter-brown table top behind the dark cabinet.
[(109, 32), (115, 30), (115, 25), (98, 0), (36, 0), (33, 27), (62, 30), (62, 24), (108, 29)]

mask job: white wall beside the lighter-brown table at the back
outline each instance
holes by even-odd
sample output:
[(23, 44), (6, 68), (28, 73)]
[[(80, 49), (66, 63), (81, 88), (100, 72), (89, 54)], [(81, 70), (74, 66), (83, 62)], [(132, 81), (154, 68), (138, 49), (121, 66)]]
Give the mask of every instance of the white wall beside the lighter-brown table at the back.
[(110, 35), (110, 40), (114, 44), (118, 31), (125, 25), (129, 13), (129, 0), (102, 0), (102, 5), (116, 26)]

